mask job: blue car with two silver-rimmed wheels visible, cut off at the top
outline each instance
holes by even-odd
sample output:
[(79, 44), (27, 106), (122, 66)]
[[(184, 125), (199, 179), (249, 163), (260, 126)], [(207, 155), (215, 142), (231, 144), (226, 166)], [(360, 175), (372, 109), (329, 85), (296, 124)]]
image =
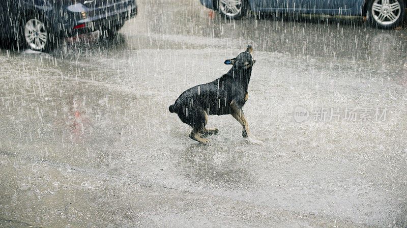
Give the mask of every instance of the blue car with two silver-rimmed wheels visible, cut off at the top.
[(248, 11), (256, 13), (297, 12), (307, 14), (367, 16), (381, 29), (401, 25), (406, 0), (200, 0), (200, 3), (229, 19), (239, 19)]

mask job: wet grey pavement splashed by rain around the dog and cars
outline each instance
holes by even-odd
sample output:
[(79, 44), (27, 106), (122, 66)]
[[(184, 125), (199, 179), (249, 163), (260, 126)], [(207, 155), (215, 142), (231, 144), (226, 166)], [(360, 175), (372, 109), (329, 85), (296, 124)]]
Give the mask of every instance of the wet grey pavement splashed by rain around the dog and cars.
[[(226, 21), (138, 1), (119, 36), (0, 50), (0, 227), (405, 227), (407, 31), (363, 18)], [(247, 44), (252, 137), (210, 146), (168, 106)], [(386, 109), (297, 123), (295, 107)]]

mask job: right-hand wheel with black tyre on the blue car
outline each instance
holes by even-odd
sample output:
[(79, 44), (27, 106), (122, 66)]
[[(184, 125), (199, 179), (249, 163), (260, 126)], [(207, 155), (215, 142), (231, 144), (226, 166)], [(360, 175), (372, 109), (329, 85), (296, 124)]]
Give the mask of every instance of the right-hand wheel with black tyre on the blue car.
[(404, 0), (372, 0), (369, 4), (369, 20), (374, 27), (393, 29), (398, 27), (405, 17)]

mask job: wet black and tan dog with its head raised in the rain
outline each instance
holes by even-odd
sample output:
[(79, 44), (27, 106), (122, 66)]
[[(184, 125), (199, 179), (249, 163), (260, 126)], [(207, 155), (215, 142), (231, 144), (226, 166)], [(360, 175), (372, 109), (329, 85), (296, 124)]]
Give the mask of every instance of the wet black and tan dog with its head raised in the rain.
[(256, 61), (253, 59), (253, 48), (249, 45), (235, 59), (226, 60), (225, 64), (233, 65), (222, 77), (182, 93), (170, 112), (176, 112), (181, 121), (191, 126), (189, 137), (202, 144), (210, 141), (199, 137), (201, 134), (218, 133), (217, 128), (207, 129), (208, 115), (232, 115), (243, 126), (243, 137), (249, 136), (249, 126), (242, 107), (246, 103), (251, 70)]

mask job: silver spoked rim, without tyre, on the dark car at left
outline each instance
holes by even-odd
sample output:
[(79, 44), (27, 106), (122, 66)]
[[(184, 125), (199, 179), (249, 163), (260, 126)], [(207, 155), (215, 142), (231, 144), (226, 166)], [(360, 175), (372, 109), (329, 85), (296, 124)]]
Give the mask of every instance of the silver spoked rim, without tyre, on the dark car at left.
[(27, 44), (35, 49), (41, 50), (48, 41), (48, 33), (45, 24), (37, 19), (30, 19), (24, 26), (24, 37)]

